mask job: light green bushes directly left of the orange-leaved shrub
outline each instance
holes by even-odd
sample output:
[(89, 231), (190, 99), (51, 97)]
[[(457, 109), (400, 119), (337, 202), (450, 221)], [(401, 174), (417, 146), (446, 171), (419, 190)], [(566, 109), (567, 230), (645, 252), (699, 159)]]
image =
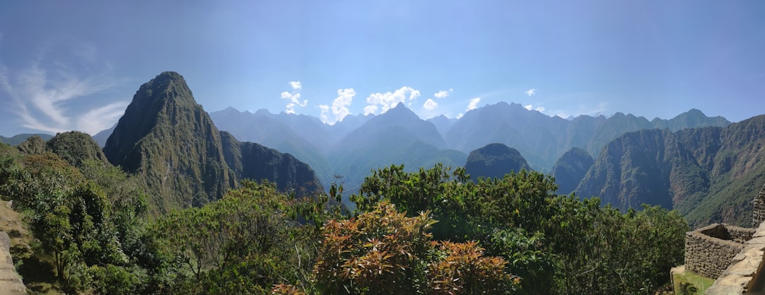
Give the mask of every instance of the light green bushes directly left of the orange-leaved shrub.
[(296, 200), (274, 183), (243, 182), (223, 199), (171, 212), (152, 233), (176, 293), (266, 293), (274, 284), (305, 282), (312, 227), (302, 227)]

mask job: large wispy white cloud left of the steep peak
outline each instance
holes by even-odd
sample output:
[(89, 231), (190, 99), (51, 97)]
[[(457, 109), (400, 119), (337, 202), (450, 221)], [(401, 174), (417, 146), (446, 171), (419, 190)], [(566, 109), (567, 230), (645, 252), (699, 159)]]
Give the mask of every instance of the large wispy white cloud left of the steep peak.
[[(116, 80), (103, 74), (83, 77), (64, 64), (52, 63), (44, 69), (43, 59), (15, 73), (0, 70), (0, 88), (13, 100), (11, 112), (21, 126), (51, 133), (78, 130), (96, 134), (109, 128), (125, 111), (128, 102), (96, 106), (78, 103), (116, 86)], [(2, 66), (2, 65), (0, 65)]]

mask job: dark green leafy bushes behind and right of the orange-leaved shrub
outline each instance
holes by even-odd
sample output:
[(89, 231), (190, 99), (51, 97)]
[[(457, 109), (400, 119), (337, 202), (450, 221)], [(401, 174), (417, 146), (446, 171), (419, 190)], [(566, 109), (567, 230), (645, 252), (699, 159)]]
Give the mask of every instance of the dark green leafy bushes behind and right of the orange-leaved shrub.
[(688, 225), (678, 212), (646, 206), (620, 213), (597, 198), (556, 196), (552, 177), (526, 170), (477, 183), (449, 172), (392, 166), (367, 177), (352, 198), (360, 210), (381, 200), (430, 210), (441, 219), (436, 239), (480, 242), (510, 261), (527, 293), (646, 292), (682, 263)]

